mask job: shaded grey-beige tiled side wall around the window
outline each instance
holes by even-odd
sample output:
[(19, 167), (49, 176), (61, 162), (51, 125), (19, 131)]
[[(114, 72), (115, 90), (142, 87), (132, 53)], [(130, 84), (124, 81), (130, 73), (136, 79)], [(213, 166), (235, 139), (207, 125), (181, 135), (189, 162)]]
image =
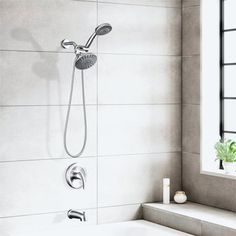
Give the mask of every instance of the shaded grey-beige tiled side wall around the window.
[[(200, 1), (183, 2), (183, 189), (189, 200), (236, 211), (235, 180), (200, 174)], [(209, 95), (210, 96), (210, 95)]]

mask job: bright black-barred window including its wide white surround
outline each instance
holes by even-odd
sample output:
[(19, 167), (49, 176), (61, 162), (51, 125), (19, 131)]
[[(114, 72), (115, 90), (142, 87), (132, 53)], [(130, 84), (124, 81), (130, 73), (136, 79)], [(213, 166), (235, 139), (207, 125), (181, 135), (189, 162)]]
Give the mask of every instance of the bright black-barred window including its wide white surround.
[(201, 3), (201, 173), (224, 176), (214, 145), (236, 140), (236, 1)]

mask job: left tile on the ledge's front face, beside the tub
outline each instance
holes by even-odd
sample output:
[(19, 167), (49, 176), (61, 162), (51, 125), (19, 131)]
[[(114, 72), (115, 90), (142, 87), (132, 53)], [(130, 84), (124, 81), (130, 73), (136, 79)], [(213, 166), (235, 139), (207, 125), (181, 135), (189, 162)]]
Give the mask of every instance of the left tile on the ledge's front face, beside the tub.
[(193, 235), (201, 235), (201, 221), (161, 210), (152, 210), (144, 207), (143, 216), (145, 220), (161, 224), (173, 229)]

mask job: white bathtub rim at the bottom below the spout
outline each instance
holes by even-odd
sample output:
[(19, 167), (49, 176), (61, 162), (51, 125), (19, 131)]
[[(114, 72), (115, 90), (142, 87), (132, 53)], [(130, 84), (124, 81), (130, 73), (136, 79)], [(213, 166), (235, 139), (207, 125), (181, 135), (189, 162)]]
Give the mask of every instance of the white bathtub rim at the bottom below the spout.
[(122, 223), (104, 224), (96, 226), (63, 227), (43, 230), (17, 236), (187, 236), (174, 229), (145, 220), (128, 221)]

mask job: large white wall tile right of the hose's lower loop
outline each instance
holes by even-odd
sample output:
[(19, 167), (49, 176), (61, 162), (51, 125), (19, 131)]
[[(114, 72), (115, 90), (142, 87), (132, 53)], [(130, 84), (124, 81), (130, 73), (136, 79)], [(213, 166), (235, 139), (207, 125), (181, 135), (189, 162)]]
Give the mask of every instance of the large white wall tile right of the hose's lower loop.
[(180, 105), (99, 106), (99, 155), (180, 151)]

